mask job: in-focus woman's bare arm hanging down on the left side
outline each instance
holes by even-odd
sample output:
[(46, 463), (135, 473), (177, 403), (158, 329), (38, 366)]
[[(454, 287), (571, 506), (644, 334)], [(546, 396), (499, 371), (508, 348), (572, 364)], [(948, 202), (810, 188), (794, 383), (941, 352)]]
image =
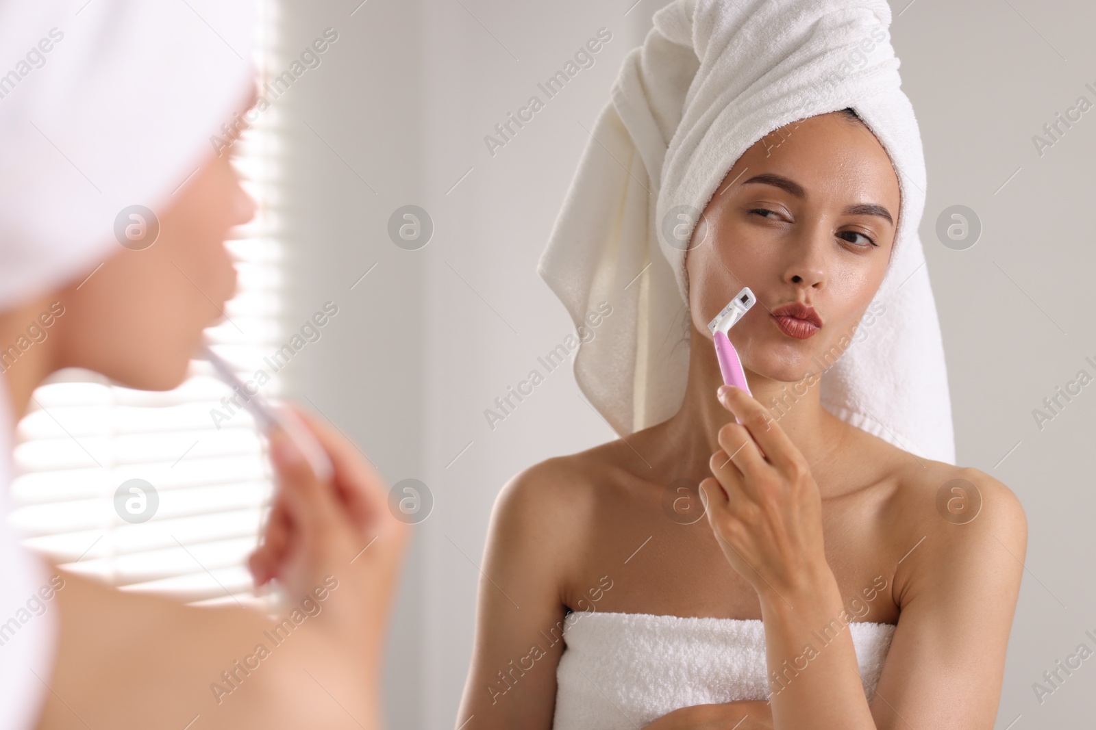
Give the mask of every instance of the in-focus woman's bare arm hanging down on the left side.
[(568, 503), (558, 464), (549, 460), (522, 472), (495, 500), (457, 728), (552, 726), (566, 612), (560, 587), (566, 547), (575, 542), (575, 506)]

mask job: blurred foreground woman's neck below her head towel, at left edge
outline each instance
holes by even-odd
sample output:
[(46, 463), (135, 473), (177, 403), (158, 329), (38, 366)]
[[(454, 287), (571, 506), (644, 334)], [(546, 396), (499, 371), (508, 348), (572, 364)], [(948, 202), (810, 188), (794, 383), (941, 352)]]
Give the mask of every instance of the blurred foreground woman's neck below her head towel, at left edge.
[(54, 357), (52, 338), (47, 335), (44, 340), (34, 341), (27, 332), (37, 323), (38, 315), (49, 310), (50, 301), (48, 296), (42, 297), (0, 312), (0, 371), (8, 386), (15, 421), (26, 413), (34, 389), (54, 370), (50, 366)]

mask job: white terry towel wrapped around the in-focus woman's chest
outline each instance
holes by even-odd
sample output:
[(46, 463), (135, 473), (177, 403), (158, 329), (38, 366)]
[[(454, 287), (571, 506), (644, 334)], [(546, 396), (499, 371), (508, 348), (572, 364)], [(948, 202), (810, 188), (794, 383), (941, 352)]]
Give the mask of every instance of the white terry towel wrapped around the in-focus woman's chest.
[[(870, 702), (894, 626), (856, 622), (847, 628)], [(823, 640), (837, 637), (844, 638), (824, 635), (811, 646), (821, 654)], [(757, 618), (576, 612), (564, 622), (563, 641), (552, 730), (635, 730), (681, 707), (769, 697), (765, 625)], [(811, 671), (808, 657), (774, 668), (783, 686), (796, 681), (796, 664)]]

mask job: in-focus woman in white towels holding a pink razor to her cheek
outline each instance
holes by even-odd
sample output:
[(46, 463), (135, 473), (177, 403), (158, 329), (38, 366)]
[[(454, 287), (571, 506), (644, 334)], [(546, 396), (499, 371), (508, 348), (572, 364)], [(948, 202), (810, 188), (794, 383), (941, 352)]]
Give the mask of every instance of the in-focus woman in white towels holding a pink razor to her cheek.
[[(626, 60), (540, 271), (575, 322), (614, 299), (575, 371), (630, 434), (499, 495), (457, 727), (993, 727), (1026, 521), (948, 463), (889, 22), (678, 0)], [(752, 396), (707, 327), (744, 286)]]

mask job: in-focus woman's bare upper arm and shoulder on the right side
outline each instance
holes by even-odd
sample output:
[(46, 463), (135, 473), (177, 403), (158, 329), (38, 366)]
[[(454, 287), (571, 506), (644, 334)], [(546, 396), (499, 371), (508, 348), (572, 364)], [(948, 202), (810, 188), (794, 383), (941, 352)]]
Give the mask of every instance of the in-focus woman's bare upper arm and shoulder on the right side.
[(994, 726), (1027, 519), (1005, 485), (972, 468), (962, 477), (981, 494), (975, 519), (934, 520), (935, 529), (899, 566), (902, 613), (871, 703), (878, 728)]

